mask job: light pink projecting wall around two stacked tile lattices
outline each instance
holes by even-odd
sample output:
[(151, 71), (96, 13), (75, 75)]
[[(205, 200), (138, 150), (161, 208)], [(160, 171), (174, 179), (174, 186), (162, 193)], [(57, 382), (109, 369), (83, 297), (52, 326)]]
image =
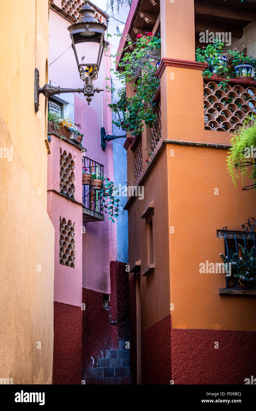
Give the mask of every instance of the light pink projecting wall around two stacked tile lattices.
[[(71, 153), (75, 167), (75, 187), (80, 188), (82, 181), (82, 157), (81, 150), (73, 145), (51, 135), (51, 154), (48, 155), (48, 192), (47, 210), (55, 229), (54, 247), (54, 301), (65, 304), (77, 305), (82, 303), (82, 205), (66, 199), (56, 192), (60, 191), (60, 148), (62, 153), (66, 150), (67, 155)], [(56, 190), (56, 192), (51, 191)], [(76, 201), (81, 202), (81, 190), (75, 192)], [(60, 264), (60, 217), (66, 221), (75, 222), (75, 268)]]

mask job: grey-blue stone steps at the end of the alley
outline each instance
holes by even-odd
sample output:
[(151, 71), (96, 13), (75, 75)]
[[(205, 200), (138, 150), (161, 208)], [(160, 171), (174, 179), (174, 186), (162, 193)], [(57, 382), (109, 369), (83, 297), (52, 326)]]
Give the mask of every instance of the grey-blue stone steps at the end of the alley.
[(105, 358), (98, 358), (85, 384), (131, 384), (130, 375), (130, 350), (125, 349), (125, 341), (120, 341), (118, 350), (106, 350)]

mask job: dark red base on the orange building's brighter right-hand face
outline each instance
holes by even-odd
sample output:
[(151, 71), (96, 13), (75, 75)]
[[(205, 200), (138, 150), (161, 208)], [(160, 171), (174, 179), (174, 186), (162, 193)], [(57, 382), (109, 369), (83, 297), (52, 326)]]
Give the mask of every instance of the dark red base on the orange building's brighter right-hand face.
[(174, 328), (171, 342), (174, 384), (244, 384), (256, 377), (256, 331)]

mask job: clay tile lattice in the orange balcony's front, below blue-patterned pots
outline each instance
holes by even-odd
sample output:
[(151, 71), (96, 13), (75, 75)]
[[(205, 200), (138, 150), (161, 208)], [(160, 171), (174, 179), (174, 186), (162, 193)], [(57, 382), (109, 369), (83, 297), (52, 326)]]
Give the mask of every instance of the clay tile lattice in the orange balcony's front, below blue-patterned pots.
[(235, 132), (247, 115), (256, 111), (256, 88), (227, 84), (226, 90), (219, 89), (214, 81), (204, 81), (205, 130)]

